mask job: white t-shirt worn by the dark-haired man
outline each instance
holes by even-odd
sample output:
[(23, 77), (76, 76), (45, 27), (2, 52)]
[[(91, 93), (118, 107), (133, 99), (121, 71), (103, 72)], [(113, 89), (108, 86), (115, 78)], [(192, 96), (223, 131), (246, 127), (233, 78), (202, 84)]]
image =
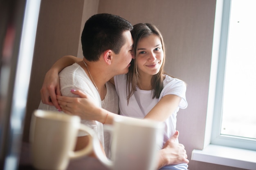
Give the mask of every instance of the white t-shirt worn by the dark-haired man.
[[(84, 69), (77, 63), (65, 67), (60, 73), (61, 94), (63, 96), (78, 97), (70, 92), (71, 89), (81, 90), (88, 98), (90, 98), (97, 107), (101, 107), (101, 98), (96, 87), (84, 71)], [(38, 109), (57, 111), (54, 106), (45, 105), (40, 102)], [(81, 120), (81, 123), (92, 128), (98, 135), (104, 147), (103, 125), (98, 121)], [(85, 132), (80, 131), (78, 136), (86, 136)]]

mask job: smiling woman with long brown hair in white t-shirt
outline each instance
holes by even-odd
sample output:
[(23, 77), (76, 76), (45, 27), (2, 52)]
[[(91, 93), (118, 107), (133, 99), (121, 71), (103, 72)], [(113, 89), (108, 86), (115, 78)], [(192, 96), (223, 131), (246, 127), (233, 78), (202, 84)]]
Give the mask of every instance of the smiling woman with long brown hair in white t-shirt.
[[(164, 122), (164, 145), (175, 133), (178, 110), (187, 107), (186, 85), (183, 81), (164, 74), (164, 41), (157, 27), (140, 23), (134, 25), (131, 33), (136, 58), (132, 60), (128, 74), (115, 76), (111, 80), (119, 96), (120, 114)], [(61, 110), (65, 113), (72, 112), (82, 119), (97, 120), (101, 123), (112, 123), (115, 116), (119, 116), (95, 107), (86, 95), (75, 89), (72, 93), (82, 98), (77, 100), (57, 96)], [(161, 148), (162, 146), (159, 146), (159, 149)], [(181, 163), (162, 169), (186, 170), (187, 167), (186, 163)]]

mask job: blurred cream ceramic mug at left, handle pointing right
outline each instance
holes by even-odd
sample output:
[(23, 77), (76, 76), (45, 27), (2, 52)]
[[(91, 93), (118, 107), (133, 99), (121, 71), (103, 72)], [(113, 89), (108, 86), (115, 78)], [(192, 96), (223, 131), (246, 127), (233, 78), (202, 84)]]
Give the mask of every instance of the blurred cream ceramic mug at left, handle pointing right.
[[(74, 152), (79, 130), (89, 134), (90, 142)], [(94, 131), (80, 123), (79, 116), (35, 110), (31, 120), (30, 143), (32, 164), (36, 169), (65, 170), (70, 159), (92, 153)]]

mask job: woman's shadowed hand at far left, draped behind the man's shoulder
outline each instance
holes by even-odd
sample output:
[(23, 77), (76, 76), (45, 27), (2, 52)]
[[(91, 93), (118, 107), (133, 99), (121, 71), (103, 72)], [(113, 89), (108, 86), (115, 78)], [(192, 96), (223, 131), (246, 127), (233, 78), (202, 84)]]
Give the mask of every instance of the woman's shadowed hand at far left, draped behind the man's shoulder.
[(54, 105), (56, 109), (61, 110), (56, 99), (56, 94), (61, 95), (60, 80), (58, 72), (54, 69), (50, 69), (43, 82), (43, 86), (40, 89), (41, 100), (44, 104)]

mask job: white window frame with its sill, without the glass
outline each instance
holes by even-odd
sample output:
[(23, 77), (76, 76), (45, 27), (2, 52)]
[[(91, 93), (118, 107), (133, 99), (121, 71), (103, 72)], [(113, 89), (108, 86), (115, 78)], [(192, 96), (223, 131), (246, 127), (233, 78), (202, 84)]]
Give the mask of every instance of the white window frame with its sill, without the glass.
[(256, 140), (222, 135), (222, 100), (231, 0), (216, 1), (204, 149), (192, 160), (256, 170)]

